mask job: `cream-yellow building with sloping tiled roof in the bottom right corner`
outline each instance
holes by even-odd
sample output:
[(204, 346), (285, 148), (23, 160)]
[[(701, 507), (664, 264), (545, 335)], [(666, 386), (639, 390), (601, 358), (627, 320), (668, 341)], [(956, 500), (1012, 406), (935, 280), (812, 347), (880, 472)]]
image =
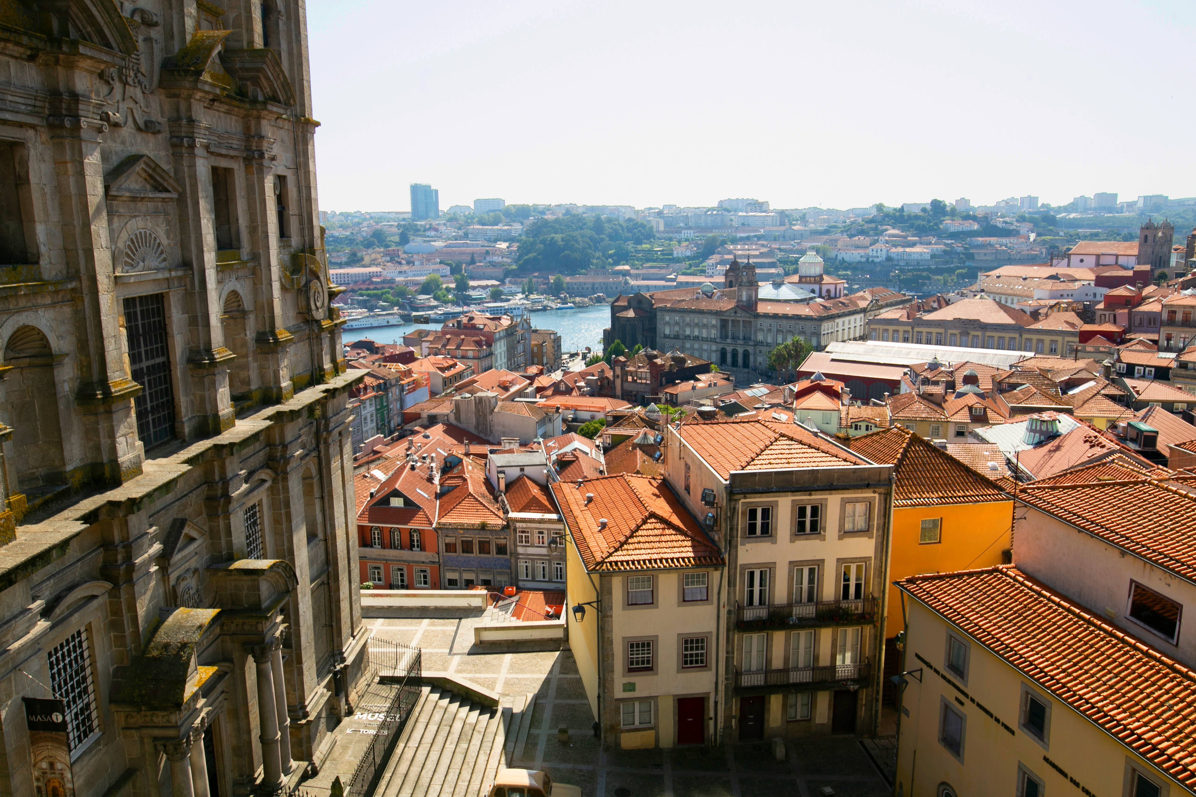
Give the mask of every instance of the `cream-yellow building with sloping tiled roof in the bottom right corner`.
[(901, 588), (898, 797), (1192, 793), (1190, 670), (1012, 566)]

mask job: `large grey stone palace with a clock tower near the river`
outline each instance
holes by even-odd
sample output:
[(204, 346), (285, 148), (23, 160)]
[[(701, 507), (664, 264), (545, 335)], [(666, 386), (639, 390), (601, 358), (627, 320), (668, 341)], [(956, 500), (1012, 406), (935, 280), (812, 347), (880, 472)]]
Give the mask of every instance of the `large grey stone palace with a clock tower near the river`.
[(789, 292), (793, 300), (761, 299), (751, 260), (732, 262), (725, 278), (725, 288), (707, 283), (700, 289), (618, 296), (611, 304), (603, 345), (621, 341), (628, 349), (636, 344), (676, 349), (752, 378), (768, 369), (769, 351), (782, 343), (804, 338), (811, 348), (822, 349), (834, 341), (862, 339), (869, 315), (910, 301), (892, 292), (884, 292), (883, 299), (874, 292), (844, 296), (843, 281), (824, 275), (817, 255), (804, 257), (799, 272), (783, 286), (763, 287), (770, 295), (786, 295), (782, 287), (800, 289), (800, 294)]

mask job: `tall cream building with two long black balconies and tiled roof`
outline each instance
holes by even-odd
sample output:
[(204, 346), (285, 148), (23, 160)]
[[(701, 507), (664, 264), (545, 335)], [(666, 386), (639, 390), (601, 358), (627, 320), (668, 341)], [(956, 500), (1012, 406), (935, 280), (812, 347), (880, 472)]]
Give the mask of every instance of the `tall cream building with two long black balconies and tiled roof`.
[(892, 467), (759, 421), (670, 428), (664, 459), (727, 558), (722, 738), (872, 732)]

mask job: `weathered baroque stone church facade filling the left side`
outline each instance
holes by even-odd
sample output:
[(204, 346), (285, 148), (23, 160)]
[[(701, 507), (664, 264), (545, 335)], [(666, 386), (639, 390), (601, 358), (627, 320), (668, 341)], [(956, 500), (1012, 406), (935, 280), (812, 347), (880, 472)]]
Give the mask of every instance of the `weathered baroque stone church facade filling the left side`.
[(367, 636), (304, 5), (0, 14), (0, 795), (20, 697), (80, 797), (277, 791)]

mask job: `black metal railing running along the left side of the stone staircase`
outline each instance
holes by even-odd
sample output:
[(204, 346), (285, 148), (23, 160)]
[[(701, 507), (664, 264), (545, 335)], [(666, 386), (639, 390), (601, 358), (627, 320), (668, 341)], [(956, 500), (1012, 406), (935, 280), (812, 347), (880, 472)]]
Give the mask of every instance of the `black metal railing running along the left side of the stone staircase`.
[(374, 731), (370, 747), (362, 752), (358, 768), (353, 772), (353, 779), (346, 790), (349, 797), (366, 797), (373, 793), (378, 786), (379, 773), (403, 734), (411, 711), (420, 701), (422, 673), (420, 649), (386, 639), (368, 639), (367, 650), (370, 645), (377, 645), (379, 650), (370, 656), (367, 666), (376, 673), (379, 683), (393, 685), (395, 693), (386, 706), (386, 713), (378, 723), (378, 730)]

